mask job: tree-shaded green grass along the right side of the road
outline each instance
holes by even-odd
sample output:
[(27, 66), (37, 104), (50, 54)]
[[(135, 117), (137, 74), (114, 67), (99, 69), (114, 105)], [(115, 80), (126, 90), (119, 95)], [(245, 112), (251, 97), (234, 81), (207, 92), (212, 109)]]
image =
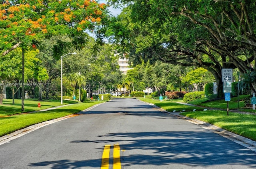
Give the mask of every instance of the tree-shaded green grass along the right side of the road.
[[(243, 99), (248, 96), (240, 96), (240, 99)], [(161, 107), (169, 112), (180, 111), (181, 115), (198, 119), (201, 121), (205, 121), (207, 123), (216, 125), (222, 129), (226, 129), (228, 131), (231, 131), (232, 133), (236, 133), (238, 135), (242, 135), (244, 137), (247, 137), (249, 139), (252, 139), (256, 141), (256, 115), (254, 114), (240, 114), (240, 113), (232, 113), (229, 112), (229, 115), (227, 115), (226, 106), (227, 101), (223, 100), (216, 100), (216, 101), (210, 101), (206, 102), (207, 98), (197, 99), (195, 101), (190, 102), (191, 104), (197, 104), (202, 105), (205, 107), (212, 107), (212, 108), (218, 108), (218, 109), (224, 109), (224, 110), (208, 110), (208, 111), (202, 111), (204, 108), (184, 105), (180, 103), (174, 103), (176, 101), (173, 100), (163, 100), (160, 102), (156, 99), (149, 99), (149, 98), (140, 98), (142, 101), (153, 103), (157, 105), (158, 107)], [(179, 101), (180, 102), (180, 101)], [(178, 105), (177, 105), (178, 104)], [(244, 102), (240, 101), (240, 108), (244, 107)], [(230, 109), (238, 109), (238, 98), (234, 97), (229, 101)], [(193, 109), (196, 109), (196, 111), (192, 111)], [(182, 112), (182, 110), (185, 110)], [(247, 112), (253, 112), (255, 113), (255, 110), (252, 109), (240, 109), (240, 111), (247, 111)]]

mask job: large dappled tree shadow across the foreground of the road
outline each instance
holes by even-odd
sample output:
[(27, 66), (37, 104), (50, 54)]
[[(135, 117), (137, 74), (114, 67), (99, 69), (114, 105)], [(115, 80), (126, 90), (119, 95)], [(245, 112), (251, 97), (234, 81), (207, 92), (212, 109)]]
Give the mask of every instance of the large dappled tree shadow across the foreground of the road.
[[(194, 133), (187, 131), (109, 133), (98, 136), (108, 137), (109, 139), (106, 140), (74, 140), (72, 143), (79, 143), (83, 146), (86, 143), (109, 144), (118, 142), (120, 143), (120, 148), (126, 150), (121, 158), (122, 166), (153, 165), (157, 168), (157, 166), (163, 165), (184, 164), (189, 167), (214, 167), (214, 165), (256, 167), (255, 153), (253, 151), (242, 148), (218, 135), (212, 134), (211, 138), (206, 138), (206, 132), (210, 131)], [(158, 139), (157, 137), (159, 136), (166, 138)], [(128, 141), (128, 143), (122, 144), (122, 141)], [(233, 151), (229, 147), (235, 147), (236, 150)], [(134, 153), (138, 152), (138, 150), (143, 154)], [(101, 159), (84, 161), (65, 159), (30, 164), (33, 167), (51, 166), (51, 169), (98, 168), (100, 165)]]

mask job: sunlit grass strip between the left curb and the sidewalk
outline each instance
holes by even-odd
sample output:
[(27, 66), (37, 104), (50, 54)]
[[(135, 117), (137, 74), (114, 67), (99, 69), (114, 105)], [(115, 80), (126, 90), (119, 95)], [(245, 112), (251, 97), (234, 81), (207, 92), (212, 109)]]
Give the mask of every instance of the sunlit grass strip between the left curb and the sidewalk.
[[(0, 117), (0, 136), (23, 129), (33, 124), (41, 123), (43, 121), (78, 113), (98, 103), (102, 102), (91, 101), (86, 103), (77, 103), (48, 111)], [(49, 105), (51, 104), (49, 103)], [(8, 109), (9, 108), (10, 107), (8, 107)]]

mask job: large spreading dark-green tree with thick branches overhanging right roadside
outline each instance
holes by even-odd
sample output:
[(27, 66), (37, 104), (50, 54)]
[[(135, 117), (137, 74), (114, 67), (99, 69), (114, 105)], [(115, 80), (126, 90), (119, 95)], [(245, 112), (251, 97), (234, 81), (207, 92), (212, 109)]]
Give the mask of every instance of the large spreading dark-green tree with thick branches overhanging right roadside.
[[(126, 19), (124, 27), (133, 29), (129, 41), (133, 61), (143, 58), (205, 68), (216, 79), (219, 97), (222, 68), (255, 70), (251, 64), (256, 56), (254, 0), (112, 2), (126, 2), (132, 11), (126, 13), (131, 20)], [(256, 88), (256, 83), (251, 87)]]

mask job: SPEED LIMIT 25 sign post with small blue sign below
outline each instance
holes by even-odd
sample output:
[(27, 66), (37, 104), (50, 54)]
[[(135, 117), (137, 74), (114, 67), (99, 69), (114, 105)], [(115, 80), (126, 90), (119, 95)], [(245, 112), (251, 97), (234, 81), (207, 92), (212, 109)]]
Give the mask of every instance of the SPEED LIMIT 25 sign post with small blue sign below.
[(225, 93), (225, 101), (227, 101), (227, 115), (229, 111), (228, 101), (231, 100), (233, 69), (222, 69), (223, 92)]

